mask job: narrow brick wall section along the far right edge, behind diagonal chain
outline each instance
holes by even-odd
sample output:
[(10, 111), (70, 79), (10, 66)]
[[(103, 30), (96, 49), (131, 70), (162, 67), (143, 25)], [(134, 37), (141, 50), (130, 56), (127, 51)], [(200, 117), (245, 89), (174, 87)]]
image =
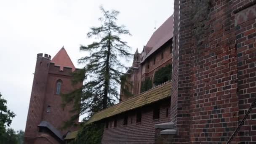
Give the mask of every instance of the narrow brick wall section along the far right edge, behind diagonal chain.
[[(235, 0), (237, 2), (238, 0)], [(239, 119), (242, 120), (251, 102), (256, 97), (256, 5), (255, 0), (242, 0), (235, 10), (235, 43), (237, 48), (237, 91)], [(234, 3), (235, 3), (234, 2)], [(246, 3), (245, 3), (246, 2)], [(244, 8), (244, 9), (241, 9)], [(239, 10), (239, 11), (237, 11)], [(256, 110), (253, 109), (240, 130), (240, 142), (256, 143)], [(250, 143), (250, 144), (251, 144)]]

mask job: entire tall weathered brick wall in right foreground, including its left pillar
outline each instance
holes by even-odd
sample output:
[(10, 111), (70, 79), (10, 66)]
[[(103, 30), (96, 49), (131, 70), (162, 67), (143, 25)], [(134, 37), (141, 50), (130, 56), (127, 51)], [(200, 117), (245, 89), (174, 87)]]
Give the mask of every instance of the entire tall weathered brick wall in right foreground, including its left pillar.
[[(173, 141), (225, 143), (250, 106), (256, 95), (256, 6), (249, 5), (253, 3), (175, 0)], [(234, 143), (255, 143), (255, 112)]]

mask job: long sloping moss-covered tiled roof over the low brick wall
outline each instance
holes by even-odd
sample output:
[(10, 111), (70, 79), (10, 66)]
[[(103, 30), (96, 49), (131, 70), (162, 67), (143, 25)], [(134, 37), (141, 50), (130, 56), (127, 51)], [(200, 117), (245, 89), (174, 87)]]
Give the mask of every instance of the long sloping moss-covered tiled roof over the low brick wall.
[(137, 96), (133, 96), (129, 99), (126, 99), (125, 101), (120, 102), (119, 104), (115, 104), (112, 107), (94, 114), (88, 123), (93, 123), (107, 117), (112, 117), (122, 112), (136, 109), (161, 99), (165, 99), (169, 96), (171, 96), (171, 81), (163, 83), (162, 85), (158, 85), (149, 91), (141, 93)]

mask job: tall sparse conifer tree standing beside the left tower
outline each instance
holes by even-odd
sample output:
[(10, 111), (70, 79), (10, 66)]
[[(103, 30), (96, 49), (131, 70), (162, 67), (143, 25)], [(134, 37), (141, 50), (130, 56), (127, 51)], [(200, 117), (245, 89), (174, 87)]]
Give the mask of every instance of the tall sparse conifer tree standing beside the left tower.
[[(89, 56), (78, 60), (85, 67), (74, 74), (74, 84), (83, 82), (83, 87), (72, 93), (63, 95), (66, 104), (70, 101), (80, 102), (75, 105), (73, 112), (80, 111), (90, 117), (93, 113), (105, 109), (118, 100), (117, 91), (120, 77), (125, 65), (121, 59), (128, 59), (130, 47), (121, 40), (121, 35), (131, 35), (125, 26), (117, 25), (119, 11), (106, 11), (100, 7), (103, 16), (99, 18), (101, 26), (91, 27), (88, 38), (95, 41), (89, 45), (81, 45), (80, 50), (89, 52)], [(120, 59), (121, 58), (121, 59)], [(72, 117), (75, 120), (79, 115)]]

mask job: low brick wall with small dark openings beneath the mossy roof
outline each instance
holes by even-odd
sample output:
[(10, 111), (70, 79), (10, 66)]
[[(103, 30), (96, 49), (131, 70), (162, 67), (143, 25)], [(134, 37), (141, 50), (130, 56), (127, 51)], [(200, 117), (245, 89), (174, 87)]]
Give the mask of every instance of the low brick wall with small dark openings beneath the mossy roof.
[(136, 123), (136, 110), (128, 113), (128, 125), (123, 125), (123, 115), (117, 115), (116, 128), (113, 127), (114, 118), (109, 118), (109, 128), (104, 130), (102, 144), (153, 144), (155, 141), (154, 125), (166, 123), (170, 119), (170, 115), (166, 117), (166, 109), (170, 107), (169, 101), (170, 99), (162, 101), (158, 120), (152, 119), (152, 109), (155, 104), (142, 108), (141, 123)]

